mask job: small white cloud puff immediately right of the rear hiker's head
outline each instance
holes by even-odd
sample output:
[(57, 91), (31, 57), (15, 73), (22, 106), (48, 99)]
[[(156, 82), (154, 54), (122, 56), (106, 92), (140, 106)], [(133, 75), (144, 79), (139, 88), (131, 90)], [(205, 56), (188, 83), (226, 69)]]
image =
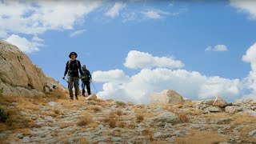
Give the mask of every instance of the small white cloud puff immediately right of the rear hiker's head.
[(97, 82), (127, 82), (129, 81), (129, 76), (127, 76), (122, 70), (109, 70), (109, 71), (95, 71), (92, 74), (92, 78)]

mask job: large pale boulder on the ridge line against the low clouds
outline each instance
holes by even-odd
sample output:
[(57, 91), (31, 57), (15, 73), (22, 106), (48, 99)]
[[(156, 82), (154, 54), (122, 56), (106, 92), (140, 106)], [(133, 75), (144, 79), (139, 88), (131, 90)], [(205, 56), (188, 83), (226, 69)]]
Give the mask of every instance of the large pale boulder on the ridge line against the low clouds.
[(152, 104), (179, 104), (185, 102), (182, 95), (174, 90), (163, 90), (161, 93), (154, 93), (151, 95)]

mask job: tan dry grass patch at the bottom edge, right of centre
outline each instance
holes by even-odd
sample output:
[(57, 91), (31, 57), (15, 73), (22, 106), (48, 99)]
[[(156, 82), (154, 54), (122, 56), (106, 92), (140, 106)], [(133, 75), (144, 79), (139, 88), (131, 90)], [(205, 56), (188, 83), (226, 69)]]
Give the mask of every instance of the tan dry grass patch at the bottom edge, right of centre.
[(230, 138), (227, 136), (221, 136), (217, 133), (210, 131), (192, 131), (190, 134), (183, 136), (182, 138), (176, 138), (178, 144), (213, 144), (219, 142), (228, 142)]

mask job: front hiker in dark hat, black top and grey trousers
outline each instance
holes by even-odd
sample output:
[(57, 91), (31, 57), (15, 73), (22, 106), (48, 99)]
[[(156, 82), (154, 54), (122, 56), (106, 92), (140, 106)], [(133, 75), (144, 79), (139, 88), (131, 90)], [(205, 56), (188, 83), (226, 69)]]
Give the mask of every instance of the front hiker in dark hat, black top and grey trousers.
[(73, 85), (75, 90), (75, 98), (78, 100), (78, 93), (79, 93), (79, 74), (82, 75), (82, 69), (81, 69), (81, 63), (76, 59), (78, 58), (78, 54), (75, 52), (71, 52), (70, 55), (70, 61), (66, 62), (66, 70), (64, 73), (63, 79), (65, 79), (66, 74), (68, 73), (68, 87), (70, 90), (70, 99), (74, 100), (73, 95)]

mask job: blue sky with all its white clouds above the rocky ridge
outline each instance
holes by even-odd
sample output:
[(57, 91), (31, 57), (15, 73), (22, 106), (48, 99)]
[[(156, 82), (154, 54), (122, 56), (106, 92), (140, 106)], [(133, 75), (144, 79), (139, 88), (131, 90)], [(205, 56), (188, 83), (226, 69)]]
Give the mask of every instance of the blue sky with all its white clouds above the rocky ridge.
[(63, 86), (75, 51), (102, 99), (256, 99), (253, 0), (0, 0), (0, 38)]

